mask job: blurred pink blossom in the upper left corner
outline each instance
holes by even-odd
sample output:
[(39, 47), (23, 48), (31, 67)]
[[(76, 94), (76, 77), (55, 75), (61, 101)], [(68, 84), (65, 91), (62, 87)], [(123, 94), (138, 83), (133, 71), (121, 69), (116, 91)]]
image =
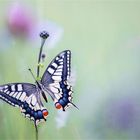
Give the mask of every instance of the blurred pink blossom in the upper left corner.
[(11, 6), (7, 15), (9, 32), (16, 37), (28, 37), (34, 28), (34, 20), (31, 12), (22, 5), (16, 3)]

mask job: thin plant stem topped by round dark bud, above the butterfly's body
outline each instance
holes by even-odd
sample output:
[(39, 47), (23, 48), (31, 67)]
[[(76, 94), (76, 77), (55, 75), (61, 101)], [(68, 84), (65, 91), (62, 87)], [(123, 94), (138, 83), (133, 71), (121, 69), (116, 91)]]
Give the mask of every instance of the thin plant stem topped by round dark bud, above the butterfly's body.
[(37, 77), (39, 77), (39, 73), (40, 73), (40, 61), (42, 57), (43, 46), (45, 44), (46, 39), (49, 37), (49, 34), (46, 31), (43, 31), (40, 33), (40, 37), (42, 39), (42, 42), (41, 42), (41, 47), (40, 47), (39, 56), (38, 56)]

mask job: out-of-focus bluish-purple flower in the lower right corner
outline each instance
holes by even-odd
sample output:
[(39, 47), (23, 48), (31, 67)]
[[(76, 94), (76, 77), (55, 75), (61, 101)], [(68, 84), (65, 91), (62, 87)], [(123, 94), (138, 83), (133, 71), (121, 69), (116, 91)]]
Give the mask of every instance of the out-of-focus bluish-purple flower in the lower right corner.
[(108, 125), (119, 130), (134, 128), (137, 124), (137, 115), (140, 115), (137, 102), (132, 98), (118, 99), (111, 102), (107, 111)]

